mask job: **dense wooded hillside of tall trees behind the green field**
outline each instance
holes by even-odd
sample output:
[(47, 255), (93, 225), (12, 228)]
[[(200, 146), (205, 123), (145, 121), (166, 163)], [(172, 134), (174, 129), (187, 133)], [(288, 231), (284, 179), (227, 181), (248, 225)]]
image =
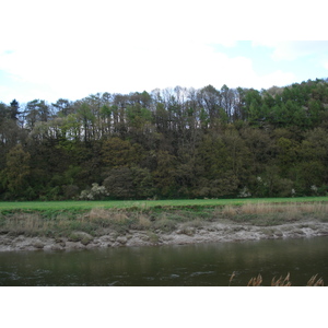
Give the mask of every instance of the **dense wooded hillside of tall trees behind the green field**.
[(0, 199), (328, 191), (328, 79), (0, 103)]

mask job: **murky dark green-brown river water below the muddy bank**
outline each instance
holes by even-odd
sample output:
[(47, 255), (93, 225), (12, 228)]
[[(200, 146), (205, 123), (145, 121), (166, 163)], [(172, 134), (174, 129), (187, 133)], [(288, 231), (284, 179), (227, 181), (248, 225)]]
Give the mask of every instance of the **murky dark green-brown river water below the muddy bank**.
[(291, 273), (305, 285), (328, 281), (328, 238), (259, 241), (83, 251), (0, 254), (0, 285), (263, 285)]

